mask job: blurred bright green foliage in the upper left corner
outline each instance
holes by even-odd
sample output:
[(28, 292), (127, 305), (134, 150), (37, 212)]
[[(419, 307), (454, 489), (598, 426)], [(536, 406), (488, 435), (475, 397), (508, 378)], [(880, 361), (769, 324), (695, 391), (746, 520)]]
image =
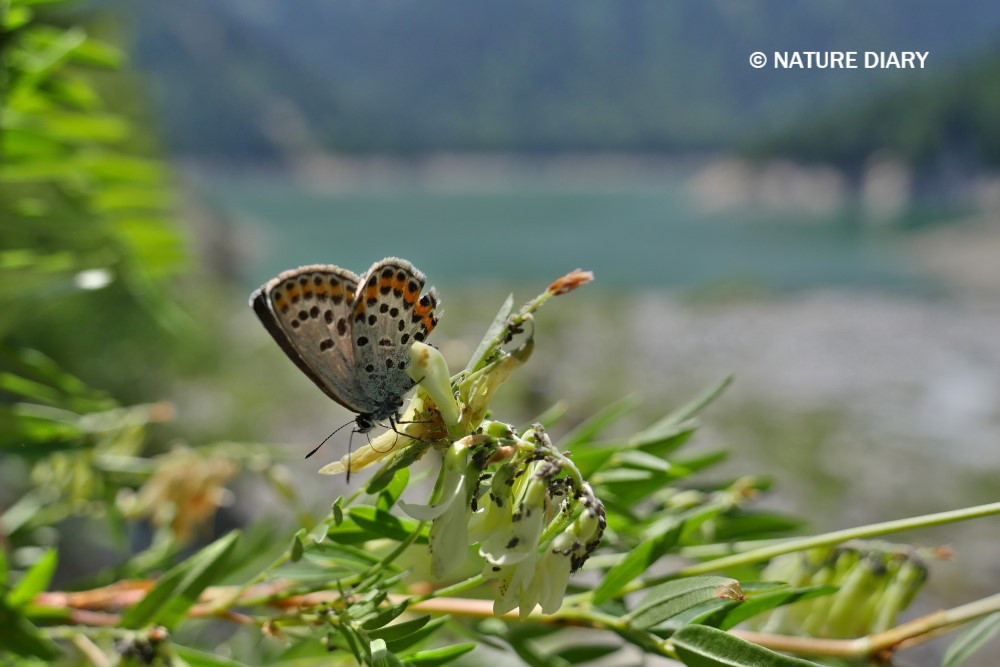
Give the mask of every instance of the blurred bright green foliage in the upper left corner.
[[(60, 4), (0, 5), (0, 342), (60, 350), (75, 371), (135, 386), (106, 370), (108, 325), (93, 315), (114, 316), (121, 335), (168, 340), (163, 328), (185, 318), (164, 281), (185, 251), (165, 165), (105, 92), (122, 95), (123, 54), (80, 25), (47, 22)], [(167, 361), (151, 359), (145, 376)]]

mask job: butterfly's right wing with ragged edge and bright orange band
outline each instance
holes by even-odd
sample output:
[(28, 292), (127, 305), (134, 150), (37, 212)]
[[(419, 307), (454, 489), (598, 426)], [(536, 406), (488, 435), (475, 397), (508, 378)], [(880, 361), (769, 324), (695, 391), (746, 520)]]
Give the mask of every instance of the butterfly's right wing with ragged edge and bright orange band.
[(355, 370), (358, 384), (380, 406), (384, 418), (415, 384), (406, 372), (410, 347), (437, 326), (437, 293), (420, 296), (426, 278), (398, 257), (376, 262), (361, 277), (353, 304)]

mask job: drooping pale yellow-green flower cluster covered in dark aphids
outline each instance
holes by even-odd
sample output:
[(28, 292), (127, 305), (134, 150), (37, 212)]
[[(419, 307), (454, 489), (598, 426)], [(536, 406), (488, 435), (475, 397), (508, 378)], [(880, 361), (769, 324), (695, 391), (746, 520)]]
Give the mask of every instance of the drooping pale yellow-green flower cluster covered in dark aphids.
[[(506, 431), (504, 437), (490, 432)], [(499, 460), (498, 460), (498, 457)], [(433, 521), (431, 571), (447, 576), (478, 544), (483, 576), (497, 582), (493, 610), (522, 617), (562, 604), (569, 576), (600, 543), (604, 506), (540, 426), (518, 437), (506, 424), (454, 443), (445, 455), (439, 502), (402, 503), (410, 516)]]

